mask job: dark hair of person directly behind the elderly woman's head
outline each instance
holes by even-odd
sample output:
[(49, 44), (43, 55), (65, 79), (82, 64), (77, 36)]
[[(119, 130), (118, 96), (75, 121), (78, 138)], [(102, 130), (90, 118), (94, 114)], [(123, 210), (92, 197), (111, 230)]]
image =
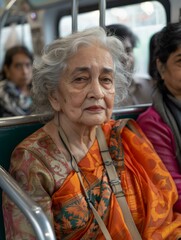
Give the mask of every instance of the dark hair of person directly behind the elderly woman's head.
[(106, 30), (109, 35), (115, 35), (120, 40), (129, 38), (133, 48), (135, 48), (138, 44), (138, 37), (126, 25), (111, 24), (111, 25), (106, 26)]

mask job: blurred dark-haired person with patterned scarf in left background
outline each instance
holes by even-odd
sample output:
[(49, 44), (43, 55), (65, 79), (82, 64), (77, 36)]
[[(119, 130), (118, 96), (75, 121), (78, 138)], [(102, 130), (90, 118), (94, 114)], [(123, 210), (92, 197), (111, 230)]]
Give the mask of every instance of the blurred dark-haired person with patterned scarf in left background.
[(25, 46), (7, 50), (0, 81), (0, 117), (30, 114), (32, 63), (33, 55)]

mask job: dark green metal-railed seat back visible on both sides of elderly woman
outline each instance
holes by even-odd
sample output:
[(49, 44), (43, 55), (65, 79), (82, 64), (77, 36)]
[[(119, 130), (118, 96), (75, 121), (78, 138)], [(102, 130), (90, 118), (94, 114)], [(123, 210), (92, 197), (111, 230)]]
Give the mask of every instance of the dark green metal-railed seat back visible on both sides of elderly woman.
[[(112, 118), (133, 118), (145, 111), (150, 104), (133, 105), (121, 109), (114, 109)], [(49, 120), (51, 115), (30, 115), (0, 119), (0, 165), (8, 171), (10, 157), (13, 149), (31, 133), (35, 132), (43, 123), (40, 119)], [(2, 214), (2, 190), (0, 189), (0, 240), (5, 240), (3, 214)]]

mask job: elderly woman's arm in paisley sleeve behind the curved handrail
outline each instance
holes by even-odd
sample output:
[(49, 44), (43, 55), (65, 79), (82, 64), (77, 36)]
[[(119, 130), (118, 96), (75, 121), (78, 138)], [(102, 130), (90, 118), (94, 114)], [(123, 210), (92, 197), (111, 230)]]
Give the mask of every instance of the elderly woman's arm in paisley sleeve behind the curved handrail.
[[(31, 199), (42, 207), (53, 224), (50, 196), (54, 190), (54, 180), (38, 156), (25, 149), (16, 149), (11, 159), (10, 173)], [(3, 215), (6, 240), (36, 239), (21, 210), (5, 194)]]

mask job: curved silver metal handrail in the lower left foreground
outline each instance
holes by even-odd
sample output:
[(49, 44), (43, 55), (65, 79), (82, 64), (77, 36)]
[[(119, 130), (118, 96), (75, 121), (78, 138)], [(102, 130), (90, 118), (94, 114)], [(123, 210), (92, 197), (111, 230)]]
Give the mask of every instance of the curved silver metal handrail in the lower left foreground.
[(17, 182), (1, 166), (0, 187), (27, 217), (38, 240), (56, 240), (54, 230), (42, 208), (22, 191)]

